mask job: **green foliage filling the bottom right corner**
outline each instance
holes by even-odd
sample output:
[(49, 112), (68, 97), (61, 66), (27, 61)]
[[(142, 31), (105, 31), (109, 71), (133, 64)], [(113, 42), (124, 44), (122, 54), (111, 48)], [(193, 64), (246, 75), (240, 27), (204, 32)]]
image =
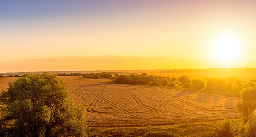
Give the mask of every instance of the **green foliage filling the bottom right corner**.
[(249, 116), (248, 122), (240, 128), (241, 137), (256, 137), (256, 110)]

